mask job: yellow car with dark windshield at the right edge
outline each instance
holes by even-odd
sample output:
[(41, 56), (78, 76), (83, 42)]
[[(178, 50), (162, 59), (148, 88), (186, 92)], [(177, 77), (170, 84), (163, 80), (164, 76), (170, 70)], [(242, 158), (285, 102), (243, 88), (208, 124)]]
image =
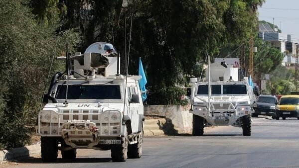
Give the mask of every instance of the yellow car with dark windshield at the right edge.
[(284, 95), (276, 107), (276, 119), (282, 117), (297, 117), (299, 119), (299, 95)]

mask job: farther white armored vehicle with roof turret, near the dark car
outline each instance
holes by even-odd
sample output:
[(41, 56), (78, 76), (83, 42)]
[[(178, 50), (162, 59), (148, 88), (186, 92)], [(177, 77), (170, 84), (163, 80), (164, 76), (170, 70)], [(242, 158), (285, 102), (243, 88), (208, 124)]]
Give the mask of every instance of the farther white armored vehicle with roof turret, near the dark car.
[[(223, 66), (224, 65), (224, 66)], [(238, 81), (238, 68), (213, 63), (207, 71), (208, 82), (190, 79), (193, 113), (193, 136), (202, 136), (204, 127), (242, 127), (243, 135), (251, 135), (252, 87)]]

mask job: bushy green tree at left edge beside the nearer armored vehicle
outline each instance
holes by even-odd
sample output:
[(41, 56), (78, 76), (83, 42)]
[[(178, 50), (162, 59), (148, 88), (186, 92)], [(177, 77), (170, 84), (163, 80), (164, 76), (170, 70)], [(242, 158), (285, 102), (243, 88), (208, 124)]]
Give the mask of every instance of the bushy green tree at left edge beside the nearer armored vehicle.
[[(27, 144), (44, 83), (56, 54), (78, 43), (72, 30), (57, 36), (57, 23), (38, 24), (26, 0), (0, 0), (0, 149)], [(54, 64), (52, 73), (62, 68)]]

